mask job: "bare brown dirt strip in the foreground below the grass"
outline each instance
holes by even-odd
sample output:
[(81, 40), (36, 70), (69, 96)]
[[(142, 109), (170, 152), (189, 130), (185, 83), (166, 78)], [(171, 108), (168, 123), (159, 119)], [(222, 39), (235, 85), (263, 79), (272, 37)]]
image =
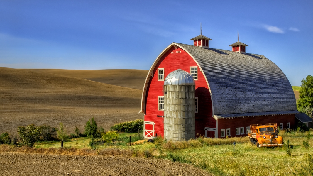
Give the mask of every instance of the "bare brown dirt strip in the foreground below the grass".
[(0, 175), (209, 175), (190, 164), (122, 156), (0, 153)]

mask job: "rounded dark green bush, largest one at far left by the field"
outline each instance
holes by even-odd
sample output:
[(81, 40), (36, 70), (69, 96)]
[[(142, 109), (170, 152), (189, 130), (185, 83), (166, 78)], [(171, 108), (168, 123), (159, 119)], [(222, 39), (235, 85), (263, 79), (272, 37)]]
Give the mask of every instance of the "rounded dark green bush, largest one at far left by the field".
[(18, 135), (21, 138), (21, 143), (27, 147), (33, 147), (35, 142), (39, 140), (40, 130), (34, 124), (27, 127), (18, 127)]

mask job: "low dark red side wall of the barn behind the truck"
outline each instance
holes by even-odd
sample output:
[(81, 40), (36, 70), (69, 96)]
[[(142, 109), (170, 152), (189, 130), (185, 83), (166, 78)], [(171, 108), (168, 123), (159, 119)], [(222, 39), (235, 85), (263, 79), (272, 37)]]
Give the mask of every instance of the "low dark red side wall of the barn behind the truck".
[[(283, 128), (287, 128), (288, 122), (291, 129), (295, 128), (295, 114), (218, 119), (218, 137), (221, 137), (221, 129), (225, 129), (226, 132), (226, 129), (230, 128), (230, 137), (239, 137), (247, 136), (246, 127), (252, 124), (277, 123), (279, 127), (280, 123), (283, 123)], [(236, 135), (236, 128), (240, 127), (244, 127), (245, 134)]]

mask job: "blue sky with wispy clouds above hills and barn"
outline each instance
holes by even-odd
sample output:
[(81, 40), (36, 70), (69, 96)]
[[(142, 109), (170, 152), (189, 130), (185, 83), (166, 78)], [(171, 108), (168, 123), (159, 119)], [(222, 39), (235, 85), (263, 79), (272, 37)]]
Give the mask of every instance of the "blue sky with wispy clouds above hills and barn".
[(172, 42), (239, 40), (300, 86), (313, 75), (313, 1), (0, 0), (0, 66), (148, 70)]

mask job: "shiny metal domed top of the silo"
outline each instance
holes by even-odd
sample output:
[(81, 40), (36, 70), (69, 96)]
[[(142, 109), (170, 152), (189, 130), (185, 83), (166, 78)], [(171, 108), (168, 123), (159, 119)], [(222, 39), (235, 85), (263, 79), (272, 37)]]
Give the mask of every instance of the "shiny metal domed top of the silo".
[(164, 85), (196, 85), (196, 83), (187, 71), (177, 69), (167, 75)]

